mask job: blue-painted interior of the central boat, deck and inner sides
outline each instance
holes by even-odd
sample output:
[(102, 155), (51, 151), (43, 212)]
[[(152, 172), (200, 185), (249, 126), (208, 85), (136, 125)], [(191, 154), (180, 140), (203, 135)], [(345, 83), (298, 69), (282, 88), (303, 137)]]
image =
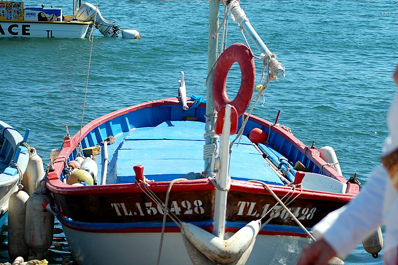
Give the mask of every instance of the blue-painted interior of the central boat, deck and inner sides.
[[(109, 164), (106, 183), (129, 183), (135, 181), (134, 165), (144, 166), (144, 175), (155, 181), (170, 181), (185, 177), (200, 177), (196, 172), (205, 170), (203, 145), (205, 108), (198, 107), (182, 111), (181, 106), (156, 106), (144, 108), (118, 116), (90, 132), (82, 141), (83, 148), (98, 145), (109, 135), (116, 137), (116, 142), (108, 145)], [(186, 121), (187, 117), (197, 121)], [(188, 119), (192, 120), (192, 119)], [(239, 121), (239, 126), (241, 120)], [(270, 134), (266, 144), (259, 144), (258, 151), (247, 136), (236, 141), (233, 147), (229, 175), (239, 180), (261, 180), (269, 184), (283, 185), (275, 170), (263, 158), (266, 156), (282, 172), (287, 172), (287, 179), (294, 180), (294, 165), (301, 161), (314, 173), (320, 173), (312, 161), (304, 156), (283, 136), (249, 121), (244, 135), (253, 128), (260, 128)], [(231, 140), (236, 135), (231, 135)], [(102, 147), (101, 147), (102, 150)], [(99, 163), (98, 181), (101, 179), (102, 153), (97, 156)], [(265, 153), (265, 154), (263, 154)], [(70, 160), (77, 156), (72, 154)], [(286, 161), (287, 158), (289, 161)], [(282, 163), (282, 164), (281, 164)], [(99, 183), (100, 184), (100, 183)]]

